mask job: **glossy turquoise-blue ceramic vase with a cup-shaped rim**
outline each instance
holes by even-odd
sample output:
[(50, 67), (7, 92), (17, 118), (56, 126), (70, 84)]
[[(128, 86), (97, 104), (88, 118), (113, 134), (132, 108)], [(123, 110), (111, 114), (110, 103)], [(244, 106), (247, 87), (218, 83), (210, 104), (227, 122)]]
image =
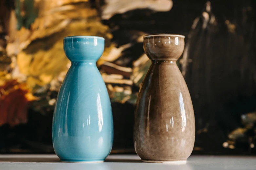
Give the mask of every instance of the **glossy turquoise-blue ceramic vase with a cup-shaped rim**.
[(103, 162), (113, 145), (110, 99), (96, 67), (104, 38), (69, 36), (63, 47), (72, 64), (55, 105), (54, 151), (62, 162)]

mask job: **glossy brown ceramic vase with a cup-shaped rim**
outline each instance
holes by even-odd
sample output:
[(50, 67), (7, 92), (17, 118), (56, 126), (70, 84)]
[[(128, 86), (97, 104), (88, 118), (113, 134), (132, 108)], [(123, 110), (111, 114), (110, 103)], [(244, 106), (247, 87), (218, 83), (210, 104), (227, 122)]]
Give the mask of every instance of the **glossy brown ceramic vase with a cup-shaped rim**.
[(195, 119), (188, 87), (176, 64), (184, 50), (184, 36), (146, 35), (143, 47), (152, 64), (137, 97), (135, 150), (144, 162), (186, 162), (194, 146)]

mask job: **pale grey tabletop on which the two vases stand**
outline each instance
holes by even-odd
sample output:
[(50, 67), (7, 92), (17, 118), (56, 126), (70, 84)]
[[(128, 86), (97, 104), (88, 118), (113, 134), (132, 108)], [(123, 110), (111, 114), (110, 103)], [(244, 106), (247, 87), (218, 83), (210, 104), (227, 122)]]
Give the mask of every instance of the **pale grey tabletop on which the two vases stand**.
[(62, 163), (56, 155), (0, 154), (0, 170), (256, 170), (256, 156), (195, 156), (187, 163), (143, 163), (137, 155), (110, 155), (102, 163)]

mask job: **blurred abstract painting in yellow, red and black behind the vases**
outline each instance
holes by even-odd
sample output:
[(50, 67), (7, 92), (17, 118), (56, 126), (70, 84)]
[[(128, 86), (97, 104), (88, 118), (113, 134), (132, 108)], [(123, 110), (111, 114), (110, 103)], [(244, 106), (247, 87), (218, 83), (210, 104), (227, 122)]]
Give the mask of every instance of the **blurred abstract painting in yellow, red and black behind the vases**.
[(185, 35), (177, 61), (195, 113), (193, 154), (256, 154), (254, 0), (1, 0), (0, 153), (54, 153), (63, 38), (105, 38), (97, 67), (111, 99), (112, 153), (135, 153), (137, 94), (151, 61), (143, 36)]

